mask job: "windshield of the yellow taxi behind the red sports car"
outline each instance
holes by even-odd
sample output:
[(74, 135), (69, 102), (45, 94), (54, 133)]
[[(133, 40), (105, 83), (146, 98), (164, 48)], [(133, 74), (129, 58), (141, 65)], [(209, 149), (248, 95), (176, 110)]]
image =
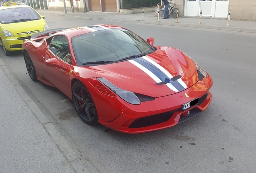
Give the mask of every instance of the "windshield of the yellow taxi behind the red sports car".
[(41, 19), (41, 17), (30, 7), (17, 7), (0, 10), (0, 23), (2, 24), (38, 19)]

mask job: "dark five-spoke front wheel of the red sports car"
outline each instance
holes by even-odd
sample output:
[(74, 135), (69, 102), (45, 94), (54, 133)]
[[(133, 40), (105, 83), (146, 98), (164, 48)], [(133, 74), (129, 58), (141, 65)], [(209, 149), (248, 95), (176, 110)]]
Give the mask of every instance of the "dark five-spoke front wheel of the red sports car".
[(89, 125), (98, 123), (98, 115), (93, 98), (80, 81), (75, 82), (72, 87), (72, 100), (76, 113), (85, 123)]

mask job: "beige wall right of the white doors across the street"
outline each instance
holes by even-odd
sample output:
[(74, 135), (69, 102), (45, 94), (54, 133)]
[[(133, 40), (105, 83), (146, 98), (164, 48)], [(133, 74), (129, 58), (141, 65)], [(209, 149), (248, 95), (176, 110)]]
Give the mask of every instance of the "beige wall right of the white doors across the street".
[(256, 21), (256, 0), (229, 0), (231, 19)]

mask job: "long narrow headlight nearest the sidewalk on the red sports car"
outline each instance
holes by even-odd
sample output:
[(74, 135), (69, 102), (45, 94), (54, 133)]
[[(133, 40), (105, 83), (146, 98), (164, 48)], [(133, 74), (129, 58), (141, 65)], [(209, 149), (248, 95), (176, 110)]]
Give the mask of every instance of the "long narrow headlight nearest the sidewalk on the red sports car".
[(111, 91), (116, 93), (119, 97), (124, 99), (124, 101), (126, 101), (130, 104), (133, 104), (133, 105), (139, 105), (140, 104), (140, 100), (138, 99), (138, 97), (133, 92), (120, 89), (119, 87), (112, 84), (111, 82), (109, 82), (105, 78), (97, 78), (97, 79), (99, 81), (101, 81), (103, 84), (105, 84), (109, 89), (111, 89)]

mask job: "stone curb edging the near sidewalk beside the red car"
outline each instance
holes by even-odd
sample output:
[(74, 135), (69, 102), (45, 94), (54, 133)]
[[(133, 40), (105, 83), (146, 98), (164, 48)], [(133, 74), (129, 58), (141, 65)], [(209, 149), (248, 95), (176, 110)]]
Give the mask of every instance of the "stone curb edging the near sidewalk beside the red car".
[(82, 153), (76, 143), (68, 136), (66, 131), (58, 124), (50, 122), (49, 119), (44, 115), (44, 113), (39, 109), (35, 102), (29, 97), (26, 91), (23, 89), (18, 80), (10, 72), (8, 66), (0, 58), (0, 67), (2, 67), (4, 73), (17, 90), (23, 101), (27, 104), (29, 109), (33, 112), (35, 117), (41, 123), (45, 132), (53, 140), (54, 144), (67, 159), (70, 167), (74, 169), (76, 173), (100, 173), (99, 170), (87, 159), (87, 157)]

